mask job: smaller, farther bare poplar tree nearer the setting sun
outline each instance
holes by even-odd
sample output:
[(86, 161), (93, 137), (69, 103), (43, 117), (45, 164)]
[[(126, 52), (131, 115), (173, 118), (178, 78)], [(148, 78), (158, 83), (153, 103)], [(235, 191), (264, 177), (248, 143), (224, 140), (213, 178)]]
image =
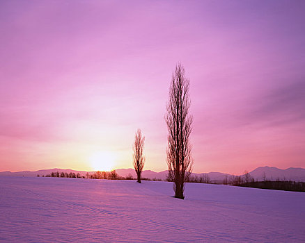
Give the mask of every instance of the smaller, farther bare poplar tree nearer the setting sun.
[(136, 171), (136, 176), (138, 178), (138, 183), (141, 183), (141, 173), (144, 167), (145, 157), (143, 155), (145, 137), (142, 137), (141, 129), (136, 131), (134, 136), (134, 169)]

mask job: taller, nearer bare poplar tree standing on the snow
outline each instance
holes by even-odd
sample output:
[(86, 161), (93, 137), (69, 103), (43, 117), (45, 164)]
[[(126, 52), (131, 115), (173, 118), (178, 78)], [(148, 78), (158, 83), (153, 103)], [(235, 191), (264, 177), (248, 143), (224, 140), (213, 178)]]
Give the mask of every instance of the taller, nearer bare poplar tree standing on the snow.
[(176, 65), (169, 88), (169, 103), (165, 121), (169, 130), (167, 165), (169, 178), (174, 183), (175, 197), (184, 199), (185, 182), (189, 179), (193, 160), (189, 135), (193, 117), (189, 115), (189, 79), (180, 63)]

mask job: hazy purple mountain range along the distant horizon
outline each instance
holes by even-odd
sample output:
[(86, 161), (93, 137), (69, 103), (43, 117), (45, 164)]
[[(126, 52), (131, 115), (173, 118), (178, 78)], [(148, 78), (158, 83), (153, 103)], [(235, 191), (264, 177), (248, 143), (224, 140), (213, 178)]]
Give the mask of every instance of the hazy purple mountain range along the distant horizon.
[[(89, 174), (93, 174), (95, 171), (76, 171), (73, 169), (58, 169), (58, 168), (54, 168), (54, 169), (40, 169), (38, 171), (18, 171), (18, 172), (10, 172), (10, 171), (3, 171), (0, 172), (0, 176), (37, 176), (38, 174), (40, 176), (44, 175), (46, 176), (47, 174), (51, 174), (52, 172), (64, 172), (64, 173), (79, 173), (81, 174), (81, 176), (85, 176), (86, 173), (88, 172)], [(116, 172), (120, 175), (120, 176), (128, 176), (129, 174), (131, 174), (134, 178), (136, 178), (136, 173), (134, 171), (134, 169), (116, 169)], [(161, 179), (164, 180), (166, 179), (167, 176), (167, 170), (166, 171), (160, 171), (160, 172), (155, 172), (155, 171), (151, 171), (151, 170), (144, 170), (142, 172), (142, 177), (143, 178), (157, 178), (157, 179)], [(224, 181), (224, 179), (227, 177), (229, 178), (231, 175), (230, 174), (224, 174), (224, 173), (220, 173), (220, 172), (209, 172), (209, 173), (201, 173), (201, 174), (197, 174), (197, 173), (192, 173), (191, 176), (203, 176), (203, 175), (208, 175), (211, 179), (212, 182), (217, 182), (217, 183), (221, 183), (222, 181)], [(254, 169), (253, 171), (249, 172), (249, 174), (255, 178), (258, 181), (263, 181), (264, 176), (265, 178), (267, 178), (268, 180), (276, 180), (276, 179), (280, 179), (280, 180), (291, 180), (291, 181), (305, 181), (305, 169), (303, 168), (294, 168), (294, 167), (290, 167), (288, 169), (279, 169), (276, 167), (258, 167), (256, 169)]]

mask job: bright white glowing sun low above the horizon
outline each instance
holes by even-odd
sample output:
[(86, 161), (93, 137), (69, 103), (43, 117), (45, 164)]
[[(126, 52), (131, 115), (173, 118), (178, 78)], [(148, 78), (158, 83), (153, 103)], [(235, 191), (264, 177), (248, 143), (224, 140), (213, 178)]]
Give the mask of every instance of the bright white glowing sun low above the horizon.
[(114, 169), (116, 156), (109, 151), (97, 151), (90, 156), (89, 161), (95, 171), (111, 171)]

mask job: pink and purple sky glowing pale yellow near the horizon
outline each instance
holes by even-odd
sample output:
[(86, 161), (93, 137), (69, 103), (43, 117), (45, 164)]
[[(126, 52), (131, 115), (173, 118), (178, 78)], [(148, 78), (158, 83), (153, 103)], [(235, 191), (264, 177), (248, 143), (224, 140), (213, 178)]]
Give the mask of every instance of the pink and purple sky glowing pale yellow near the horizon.
[(194, 172), (305, 167), (304, 1), (1, 1), (0, 171), (163, 171), (190, 81)]

